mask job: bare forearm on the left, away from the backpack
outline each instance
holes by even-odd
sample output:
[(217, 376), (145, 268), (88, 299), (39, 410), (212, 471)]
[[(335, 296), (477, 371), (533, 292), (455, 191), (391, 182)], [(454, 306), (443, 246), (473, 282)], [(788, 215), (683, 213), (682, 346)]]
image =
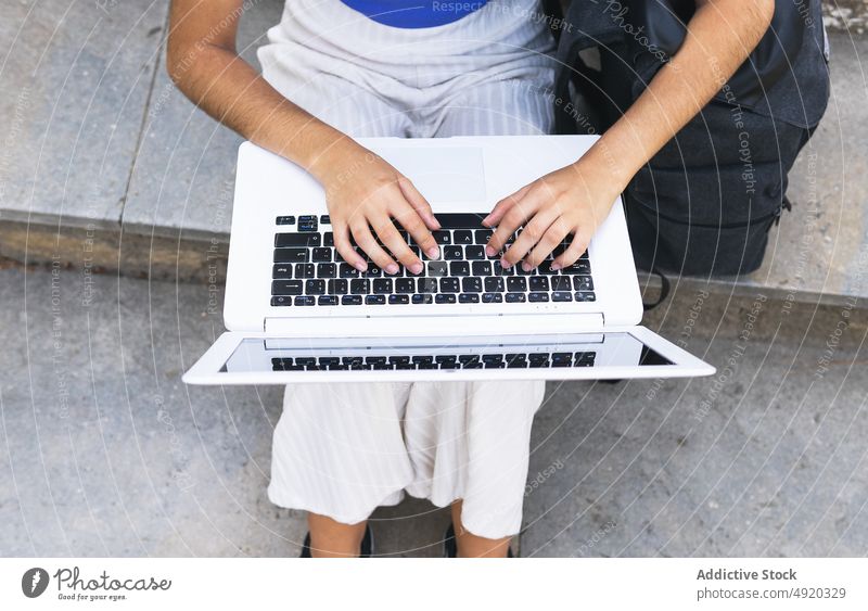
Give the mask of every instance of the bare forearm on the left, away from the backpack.
[(286, 100), (231, 49), (201, 44), (170, 60), (173, 80), (193, 103), (315, 176), (326, 171), (333, 154), (355, 147), (344, 133)]

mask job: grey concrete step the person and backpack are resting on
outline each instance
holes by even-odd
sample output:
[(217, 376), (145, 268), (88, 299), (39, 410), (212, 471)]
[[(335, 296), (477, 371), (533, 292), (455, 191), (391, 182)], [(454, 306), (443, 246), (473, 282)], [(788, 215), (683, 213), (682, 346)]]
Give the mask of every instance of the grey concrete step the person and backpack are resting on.
[[(167, 5), (17, 3), (0, 23), (0, 39), (16, 41), (0, 73), (0, 89), (11, 93), (0, 99), (0, 255), (84, 273), (222, 277), (240, 139), (169, 81)], [(254, 63), (280, 11), (278, 1), (256, 2), (242, 17), (239, 48)], [(829, 111), (792, 173), (794, 208), (773, 230), (764, 266), (739, 279), (680, 282), (807, 302), (868, 297), (868, 93), (859, 63), (868, 37), (838, 33), (831, 42)]]

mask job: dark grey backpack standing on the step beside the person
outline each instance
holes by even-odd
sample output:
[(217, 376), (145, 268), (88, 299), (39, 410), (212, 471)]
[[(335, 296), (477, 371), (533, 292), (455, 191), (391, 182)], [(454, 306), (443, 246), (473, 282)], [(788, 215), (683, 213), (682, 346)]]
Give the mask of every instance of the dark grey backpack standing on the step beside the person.
[[(573, 0), (550, 22), (562, 66), (557, 131), (601, 133), (617, 120), (677, 51), (693, 10), (693, 0)], [(637, 267), (706, 277), (758, 268), (828, 97), (819, 0), (778, 0), (748, 61), (629, 182)]]

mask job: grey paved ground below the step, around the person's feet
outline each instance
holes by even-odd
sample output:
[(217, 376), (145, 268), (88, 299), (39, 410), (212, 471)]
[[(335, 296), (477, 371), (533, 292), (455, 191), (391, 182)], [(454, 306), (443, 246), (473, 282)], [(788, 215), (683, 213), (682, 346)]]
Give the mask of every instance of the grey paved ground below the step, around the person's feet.
[[(0, 270), (3, 556), (297, 553), (302, 515), (265, 495), (278, 389), (180, 382), (221, 330), (214, 298)], [(646, 322), (719, 374), (551, 385), (522, 555), (868, 552), (868, 315), (678, 291)], [(447, 520), (376, 518), (380, 551), (407, 556), (437, 553)]]

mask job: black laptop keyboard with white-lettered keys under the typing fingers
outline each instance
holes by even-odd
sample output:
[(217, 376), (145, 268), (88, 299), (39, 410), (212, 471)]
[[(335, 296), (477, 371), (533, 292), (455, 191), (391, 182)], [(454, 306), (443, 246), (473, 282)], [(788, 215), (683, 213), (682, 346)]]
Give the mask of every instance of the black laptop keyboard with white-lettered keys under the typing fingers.
[[(441, 258), (427, 259), (409, 233), (397, 226), (409, 240), (410, 249), (423, 263), (421, 273), (411, 273), (403, 266), (396, 275), (376, 267), (358, 246), (356, 251), (368, 262), (368, 270), (359, 271), (344, 262), (334, 247), (328, 215), (279, 216), (281, 226), (275, 234), (275, 257), (271, 272), (272, 306), (354, 306), (413, 304), (502, 304), (540, 302), (592, 302), (588, 253), (572, 266), (552, 270), (551, 263), (569, 245), (564, 242), (531, 271), (521, 265), (503, 269), (500, 256), (485, 255), (485, 244), (494, 232), (482, 227), (486, 214), (438, 214), (442, 228), (434, 231), (441, 246)], [(509, 240), (511, 243), (521, 229)]]

